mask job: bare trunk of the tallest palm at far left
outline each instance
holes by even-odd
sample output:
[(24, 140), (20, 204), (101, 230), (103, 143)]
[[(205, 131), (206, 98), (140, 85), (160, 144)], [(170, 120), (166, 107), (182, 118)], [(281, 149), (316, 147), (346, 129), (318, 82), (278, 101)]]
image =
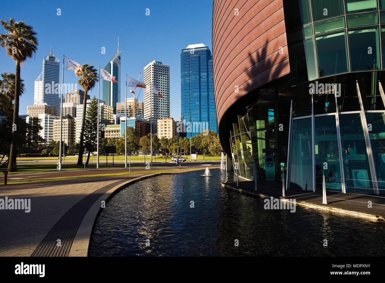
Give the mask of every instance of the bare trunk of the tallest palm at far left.
[[(16, 155), (17, 155), (17, 120), (19, 118), (19, 95), (20, 95), (20, 61), (16, 61), (15, 72), (15, 100), (13, 103), (13, 125), (11, 137), (11, 149), (9, 152), (8, 172), (17, 171)], [(15, 130), (15, 131), (13, 131)]]

